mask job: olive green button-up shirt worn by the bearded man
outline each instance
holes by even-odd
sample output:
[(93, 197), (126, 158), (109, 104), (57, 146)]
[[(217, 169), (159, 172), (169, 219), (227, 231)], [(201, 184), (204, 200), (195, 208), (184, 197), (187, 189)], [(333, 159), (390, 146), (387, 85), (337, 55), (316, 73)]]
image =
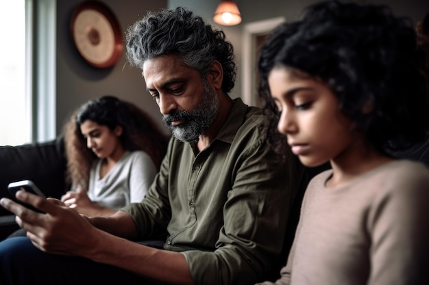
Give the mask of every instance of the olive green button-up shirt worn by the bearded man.
[(195, 284), (254, 284), (280, 258), (298, 168), (275, 163), (262, 112), (238, 98), (203, 151), (173, 137), (146, 198), (122, 210), (141, 240), (167, 229), (164, 249), (184, 254)]

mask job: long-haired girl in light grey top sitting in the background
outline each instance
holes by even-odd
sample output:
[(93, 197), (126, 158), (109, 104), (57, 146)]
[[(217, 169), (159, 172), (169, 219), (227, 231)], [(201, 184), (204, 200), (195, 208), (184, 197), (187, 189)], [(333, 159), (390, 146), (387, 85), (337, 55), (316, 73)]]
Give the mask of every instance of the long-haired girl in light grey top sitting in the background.
[(90, 100), (64, 126), (72, 191), (62, 202), (84, 215), (110, 215), (140, 202), (167, 149), (141, 109), (114, 96)]

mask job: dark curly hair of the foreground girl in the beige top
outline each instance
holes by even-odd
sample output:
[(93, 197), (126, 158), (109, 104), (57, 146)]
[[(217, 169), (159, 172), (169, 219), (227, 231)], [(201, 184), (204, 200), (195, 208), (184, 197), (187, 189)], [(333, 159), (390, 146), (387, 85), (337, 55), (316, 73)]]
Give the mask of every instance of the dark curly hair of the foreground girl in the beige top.
[(262, 48), (259, 92), (271, 144), (279, 153), (286, 146), (267, 83), (278, 65), (325, 81), (338, 96), (339, 109), (380, 152), (423, 139), (428, 93), (418, 58), (411, 21), (393, 16), (385, 5), (311, 5), (301, 21), (280, 25)]

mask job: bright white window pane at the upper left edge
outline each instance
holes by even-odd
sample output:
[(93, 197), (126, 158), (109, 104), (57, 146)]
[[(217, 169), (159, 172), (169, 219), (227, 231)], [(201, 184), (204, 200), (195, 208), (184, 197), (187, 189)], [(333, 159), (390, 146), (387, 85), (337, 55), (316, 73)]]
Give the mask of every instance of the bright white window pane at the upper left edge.
[(0, 145), (31, 141), (31, 80), (26, 77), (26, 0), (0, 3)]

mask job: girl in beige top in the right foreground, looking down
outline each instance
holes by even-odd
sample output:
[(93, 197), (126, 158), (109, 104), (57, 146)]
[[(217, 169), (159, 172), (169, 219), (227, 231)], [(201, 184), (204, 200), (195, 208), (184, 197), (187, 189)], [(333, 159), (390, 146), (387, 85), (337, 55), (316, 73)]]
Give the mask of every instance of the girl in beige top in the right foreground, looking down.
[(387, 7), (329, 1), (262, 49), (273, 147), (332, 167), (307, 187), (275, 284), (429, 284), (429, 171), (386, 152), (428, 130), (415, 43)]

